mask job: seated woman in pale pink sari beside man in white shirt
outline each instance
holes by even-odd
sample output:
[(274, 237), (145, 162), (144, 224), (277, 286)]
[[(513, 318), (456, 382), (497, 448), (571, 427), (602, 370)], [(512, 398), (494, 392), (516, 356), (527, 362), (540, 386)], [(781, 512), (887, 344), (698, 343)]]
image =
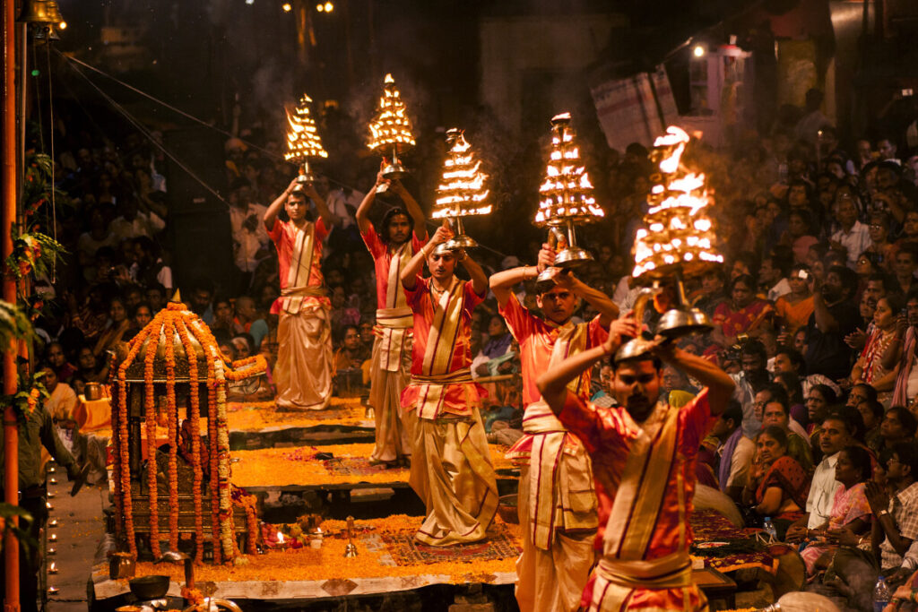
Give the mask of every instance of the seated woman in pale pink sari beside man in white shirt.
[(808, 531), (811, 543), (800, 551), (808, 575), (828, 567), (839, 546), (857, 546), (869, 535), (870, 505), (864, 486), (870, 475), (868, 451), (848, 446), (839, 453), (835, 480), (842, 486), (835, 492), (829, 520)]

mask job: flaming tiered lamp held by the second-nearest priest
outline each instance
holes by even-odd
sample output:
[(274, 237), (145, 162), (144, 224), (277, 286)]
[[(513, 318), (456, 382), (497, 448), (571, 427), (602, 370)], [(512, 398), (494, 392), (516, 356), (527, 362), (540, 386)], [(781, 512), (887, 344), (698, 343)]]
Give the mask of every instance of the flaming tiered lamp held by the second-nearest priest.
[[(593, 185), (581, 164), (577, 133), (570, 123), (570, 113), (552, 117), (552, 152), (545, 181), (539, 187), (539, 211), (534, 221), (536, 227), (549, 228), (549, 242), (559, 249), (554, 257), (554, 265), (559, 268), (593, 259), (587, 250), (577, 246), (575, 228), (577, 224), (595, 223), (606, 215), (593, 196)], [(537, 282), (550, 280), (551, 274), (543, 272)]]

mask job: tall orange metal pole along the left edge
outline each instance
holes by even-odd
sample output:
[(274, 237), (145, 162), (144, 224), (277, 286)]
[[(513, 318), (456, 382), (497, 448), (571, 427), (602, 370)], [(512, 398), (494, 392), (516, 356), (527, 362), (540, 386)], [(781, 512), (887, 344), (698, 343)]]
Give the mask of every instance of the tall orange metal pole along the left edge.
[[(10, 232), (16, 223), (16, 0), (4, 0), (3, 16), (3, 121), (0, 122), (3, 149), (0, 153), (0, 185), (2, 185), (2, 214), (0, 214), (0, 261), (13, 252)], [(16, 304), (16, 283), (3, 279), (3, 298)], [(17, 346), (11, 342), (3, 351), (3, 392), (16, 394)], [(13, 406), (4, 407), (4, 495), (7, 504), (18, 506), (19, 491), (19, 431)], [(13, 518), (14, 524), (17, 519)], [(4, 546), (6, 562), (5, 612), (19, 612), (19, 541), (11, 533)]]

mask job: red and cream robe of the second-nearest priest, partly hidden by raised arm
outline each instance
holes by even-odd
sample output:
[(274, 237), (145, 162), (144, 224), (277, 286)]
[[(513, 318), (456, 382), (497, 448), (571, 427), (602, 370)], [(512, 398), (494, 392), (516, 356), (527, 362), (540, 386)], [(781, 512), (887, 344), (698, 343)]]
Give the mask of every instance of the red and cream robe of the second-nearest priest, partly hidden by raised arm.
[[(598, 522), (592, 466), (583, 444), (554, 417), (535, 381), (550, 366), (601, 344), (609, 332), (599, 316), (559, 327), (532, 315), (513, 294), (500, 314), (520, 343), (526, 403), (524, 435), (507, 453), (522, 464), (517, 602), (522, 612), (573, 612), (594, 561)], [(589, 372), (583, 373), (568, 389), (586, 400), (589, 379)]]

